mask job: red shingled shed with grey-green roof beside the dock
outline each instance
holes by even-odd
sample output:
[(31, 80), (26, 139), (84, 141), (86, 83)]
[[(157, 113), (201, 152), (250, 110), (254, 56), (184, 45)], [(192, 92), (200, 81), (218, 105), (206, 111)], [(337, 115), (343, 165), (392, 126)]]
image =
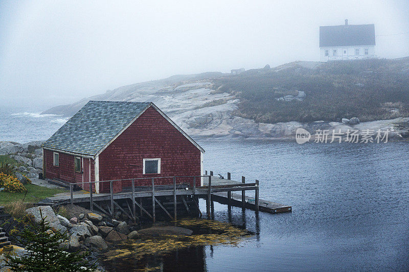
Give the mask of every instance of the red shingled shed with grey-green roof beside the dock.
[[(97, 193), (110, 191), (101, 181), (146, 178), (135, 186), (150, 186), (152, 177), (203, 174), (205, 151), (153, 103), (89, 101), (42, 148), (44, 178), (86, 190), (96, 181)], [(173, 181), (155, 180), (166, 184)], [(114, 186), (122, 191), (131, 181)]]

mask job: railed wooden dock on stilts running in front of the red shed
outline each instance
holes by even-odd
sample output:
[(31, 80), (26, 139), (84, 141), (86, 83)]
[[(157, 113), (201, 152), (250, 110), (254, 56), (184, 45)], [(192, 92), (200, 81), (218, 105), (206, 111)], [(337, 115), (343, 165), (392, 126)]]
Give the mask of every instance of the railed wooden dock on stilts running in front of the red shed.
[[(259, 200), (258, 180), (254, 183), (246, 183), (245, 178), (242, 177), (242, 182), (237, 182), (231, 180), (230, 176), (230, 173), (228, 173), (228, 179), (215, 177), (211, 171), (210, 175), (197, 177), (149, 178), (152, 180), (152, 186), (135, 186), (135, 181), (138, 179), (129, 179), (132, 181), (132, 187), (118, 193), (113, 193), (113, 183), (122, 182), (124, 180), (101, 181), (110, 184), (110, 193), (93, 193), (92, 191), (88, 192), (84, 190), (74, 191), (75, 183), (70, 183), (70, 192), (59, 193), (48, 199), (53, 202), (53, 205), (89, 203), (90, 210), (93, 211), (94, 208), (97, 208), (110, 216), (113, 216), (115, 209), (119, 209), (130, 219), (136, 218), (138, 208), (141, 215), (144, 214), (153, 221), (155, 221), (156, 218), (156, 209), (162, 209), (169, 218), (176, 220), (178, 203), (179, 206), (183, 204), (181, 207), (186, 208), (189, 213), (191, 213), (192, 209), (196, 209), (196, 211), (201, 214), (198, 198), (206, 199), (208, 217), (210, 217), (211, 214), (212, 200), (232, 206), (252, 209), (256, 212), (259, 210), (269, 213), (291, 212), (291, 206)], [(155, 185), (155, 180), (162, 178), (172, 178), (173, 185)], [(202, 178), (203, 186), (195, 186), (195, 182), (193, 182), (193, 186), (184, 183), (177, 184), (176, 180), (181, 178), (193, 178), (194, 180), (196, 180), (196, 178)], [(254, 197), (245, 195), (245, 192), (248, 190), (254, 190)], [(233, 192), (241, 193), (237, 194)], [(122, 205), (118, 204), (120, 201)], [(169, 206), (169, 204), (172, 205)]]

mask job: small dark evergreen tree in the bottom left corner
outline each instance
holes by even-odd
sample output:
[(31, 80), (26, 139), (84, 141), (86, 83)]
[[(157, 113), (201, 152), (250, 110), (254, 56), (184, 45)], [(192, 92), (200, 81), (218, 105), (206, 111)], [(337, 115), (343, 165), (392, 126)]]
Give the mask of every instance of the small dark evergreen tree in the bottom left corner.
[(12, 271), (27, 272), (60, 272), (60, 271), (96, 271), (96, 265), (85, 259), (89, 252), (80, 254), (65, 252), (59, 248), (61, 241), (68, 241), (67, 231), (53, 233), (49, 222), (42, 217), (39, 224), (31, 224), (22, 230), (18, 242), (26, 245), (28, 254), (20, 258), (10, 258), (6, 264)]

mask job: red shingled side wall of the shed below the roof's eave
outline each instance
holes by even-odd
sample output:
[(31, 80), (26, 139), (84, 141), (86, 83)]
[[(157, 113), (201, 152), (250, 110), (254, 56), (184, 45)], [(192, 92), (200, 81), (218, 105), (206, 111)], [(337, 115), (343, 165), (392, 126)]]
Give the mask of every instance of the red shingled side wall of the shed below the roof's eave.
[[(44, 175), (47, 179), (59, 179), (71, 183), (81, 183), (78, 184), (82, 187), (82, 176), (83, 174), (76, 172), (74, 170), (74, 156), (62, 152), (59, 154), (59, 166), (54, 166), (54, 152), (51, 150), (44, 149), (43, 159), (44, 159)], [(89, 160), (84, 158), (84, 160)], [(87, 164), (88, 165), (88, 164)], [(82, 169), (82, 159), (81, 159), (81, 169)], [(89, 167), (89, 166), (88, 166)], [(89, 171), (89, 168), (88, 168)], [(88, 171), (85, 171), (87, 173)], [(89, 181), (89, 176), (84, 177), (84, 181)], [(91, 181), (95, 181), (95, 163), (91, 159)]]

